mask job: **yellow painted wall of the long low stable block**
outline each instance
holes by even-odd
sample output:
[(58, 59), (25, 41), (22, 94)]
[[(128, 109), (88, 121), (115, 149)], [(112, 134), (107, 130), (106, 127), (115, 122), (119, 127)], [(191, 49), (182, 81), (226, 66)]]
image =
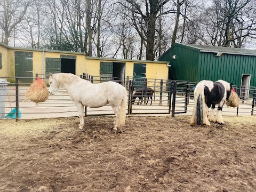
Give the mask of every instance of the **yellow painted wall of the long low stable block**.
[[(15, 48), (6, 48), (0, 45), (0, 52), (2, 53), (3, 69), (0, 69), (0, 76), (7, 77), (15, 76), (15, 65), (14, 65), (14, 51)], [(124, 62), (125, 63), (125, 77), (133, 76), (133, 64), (134, 63), (145, 63), (146, 64), (146, 78), (152, 79), (167, 79), (168, 78), (168, 67), (166, 63), (161, 62), (147, 62), (139, 60), (115, 60), (115, 59), (99, 59), (90, 58), (86, 59), (84, 54), (76, 54), (75, 52), (47, 52), (39, 50), (21, 50), (16, 51), (29, 51), (33, 52), (33, 76), (37, 74), (45, 74), (45, 58), (60, 58), (61, 54), (64, 55), (76, 55), (76, 75), (82, 75), (83, 73), (93, 75), (94, 79), (99, 79), (100, 76), (100, 62)], [(42, 61), (44, 62), (44, 70), (42, 71)], [(39, 75), (41, 77), (41, 75)]]

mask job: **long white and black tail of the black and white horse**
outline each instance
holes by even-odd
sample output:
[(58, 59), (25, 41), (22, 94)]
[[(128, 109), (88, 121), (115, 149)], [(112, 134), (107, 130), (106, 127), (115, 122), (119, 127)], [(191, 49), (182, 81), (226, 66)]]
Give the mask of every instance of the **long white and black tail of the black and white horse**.
[(203, 110), (205, 97), (204, 97), (204, 85), (198, 84), (194, 92), (195, 105), (194, 111), (190, 120), (190, 125), (202, 125), (203, 124)]

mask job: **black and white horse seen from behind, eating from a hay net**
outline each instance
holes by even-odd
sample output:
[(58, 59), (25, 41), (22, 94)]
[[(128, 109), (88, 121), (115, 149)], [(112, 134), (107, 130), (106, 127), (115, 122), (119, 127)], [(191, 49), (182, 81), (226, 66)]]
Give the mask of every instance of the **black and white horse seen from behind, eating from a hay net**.
[[(190, 125), (211, 125), (210, 122), (224, 124), (222, 120), (222, 107), (225, 100), (229, 99), (232, 83), (223, 80), (217, 82), (203, 80), (196, 85), (194, 91), (195, 105)], [(219, 104), (216, 117), (215, 105)], [(211, 107), (210, 114), (208, 110)]]

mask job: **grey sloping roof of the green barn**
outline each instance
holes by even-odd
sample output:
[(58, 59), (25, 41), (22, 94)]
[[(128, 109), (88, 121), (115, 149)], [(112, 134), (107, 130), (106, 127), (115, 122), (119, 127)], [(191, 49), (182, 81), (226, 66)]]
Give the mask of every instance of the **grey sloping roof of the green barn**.
[(186, 46), (186, 47), (189, 47), (190, 49), (193, 49), (193, 50), (196, 50), (196, 51), (199, 51), (199, 52), (226, 53), (226, 54), (239, 54), (239, 55), (254, 55), (254, 56), (256, 56), (256, 50), (249, 50), (249, 49), (211, 46), (211, 45), (195, 45), (195, 44), (187, 44), (187, 43), (175, 43), (175, 45)]

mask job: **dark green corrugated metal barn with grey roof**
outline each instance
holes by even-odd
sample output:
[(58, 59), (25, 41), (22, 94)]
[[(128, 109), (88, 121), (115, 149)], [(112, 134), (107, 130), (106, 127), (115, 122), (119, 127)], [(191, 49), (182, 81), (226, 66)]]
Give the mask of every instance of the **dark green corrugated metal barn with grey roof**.
[(169, 61), (169, 79), (190, 82), (223, 79), (237, 86), (256, 86), (256, 51), (175, 43), (160, 61)]

